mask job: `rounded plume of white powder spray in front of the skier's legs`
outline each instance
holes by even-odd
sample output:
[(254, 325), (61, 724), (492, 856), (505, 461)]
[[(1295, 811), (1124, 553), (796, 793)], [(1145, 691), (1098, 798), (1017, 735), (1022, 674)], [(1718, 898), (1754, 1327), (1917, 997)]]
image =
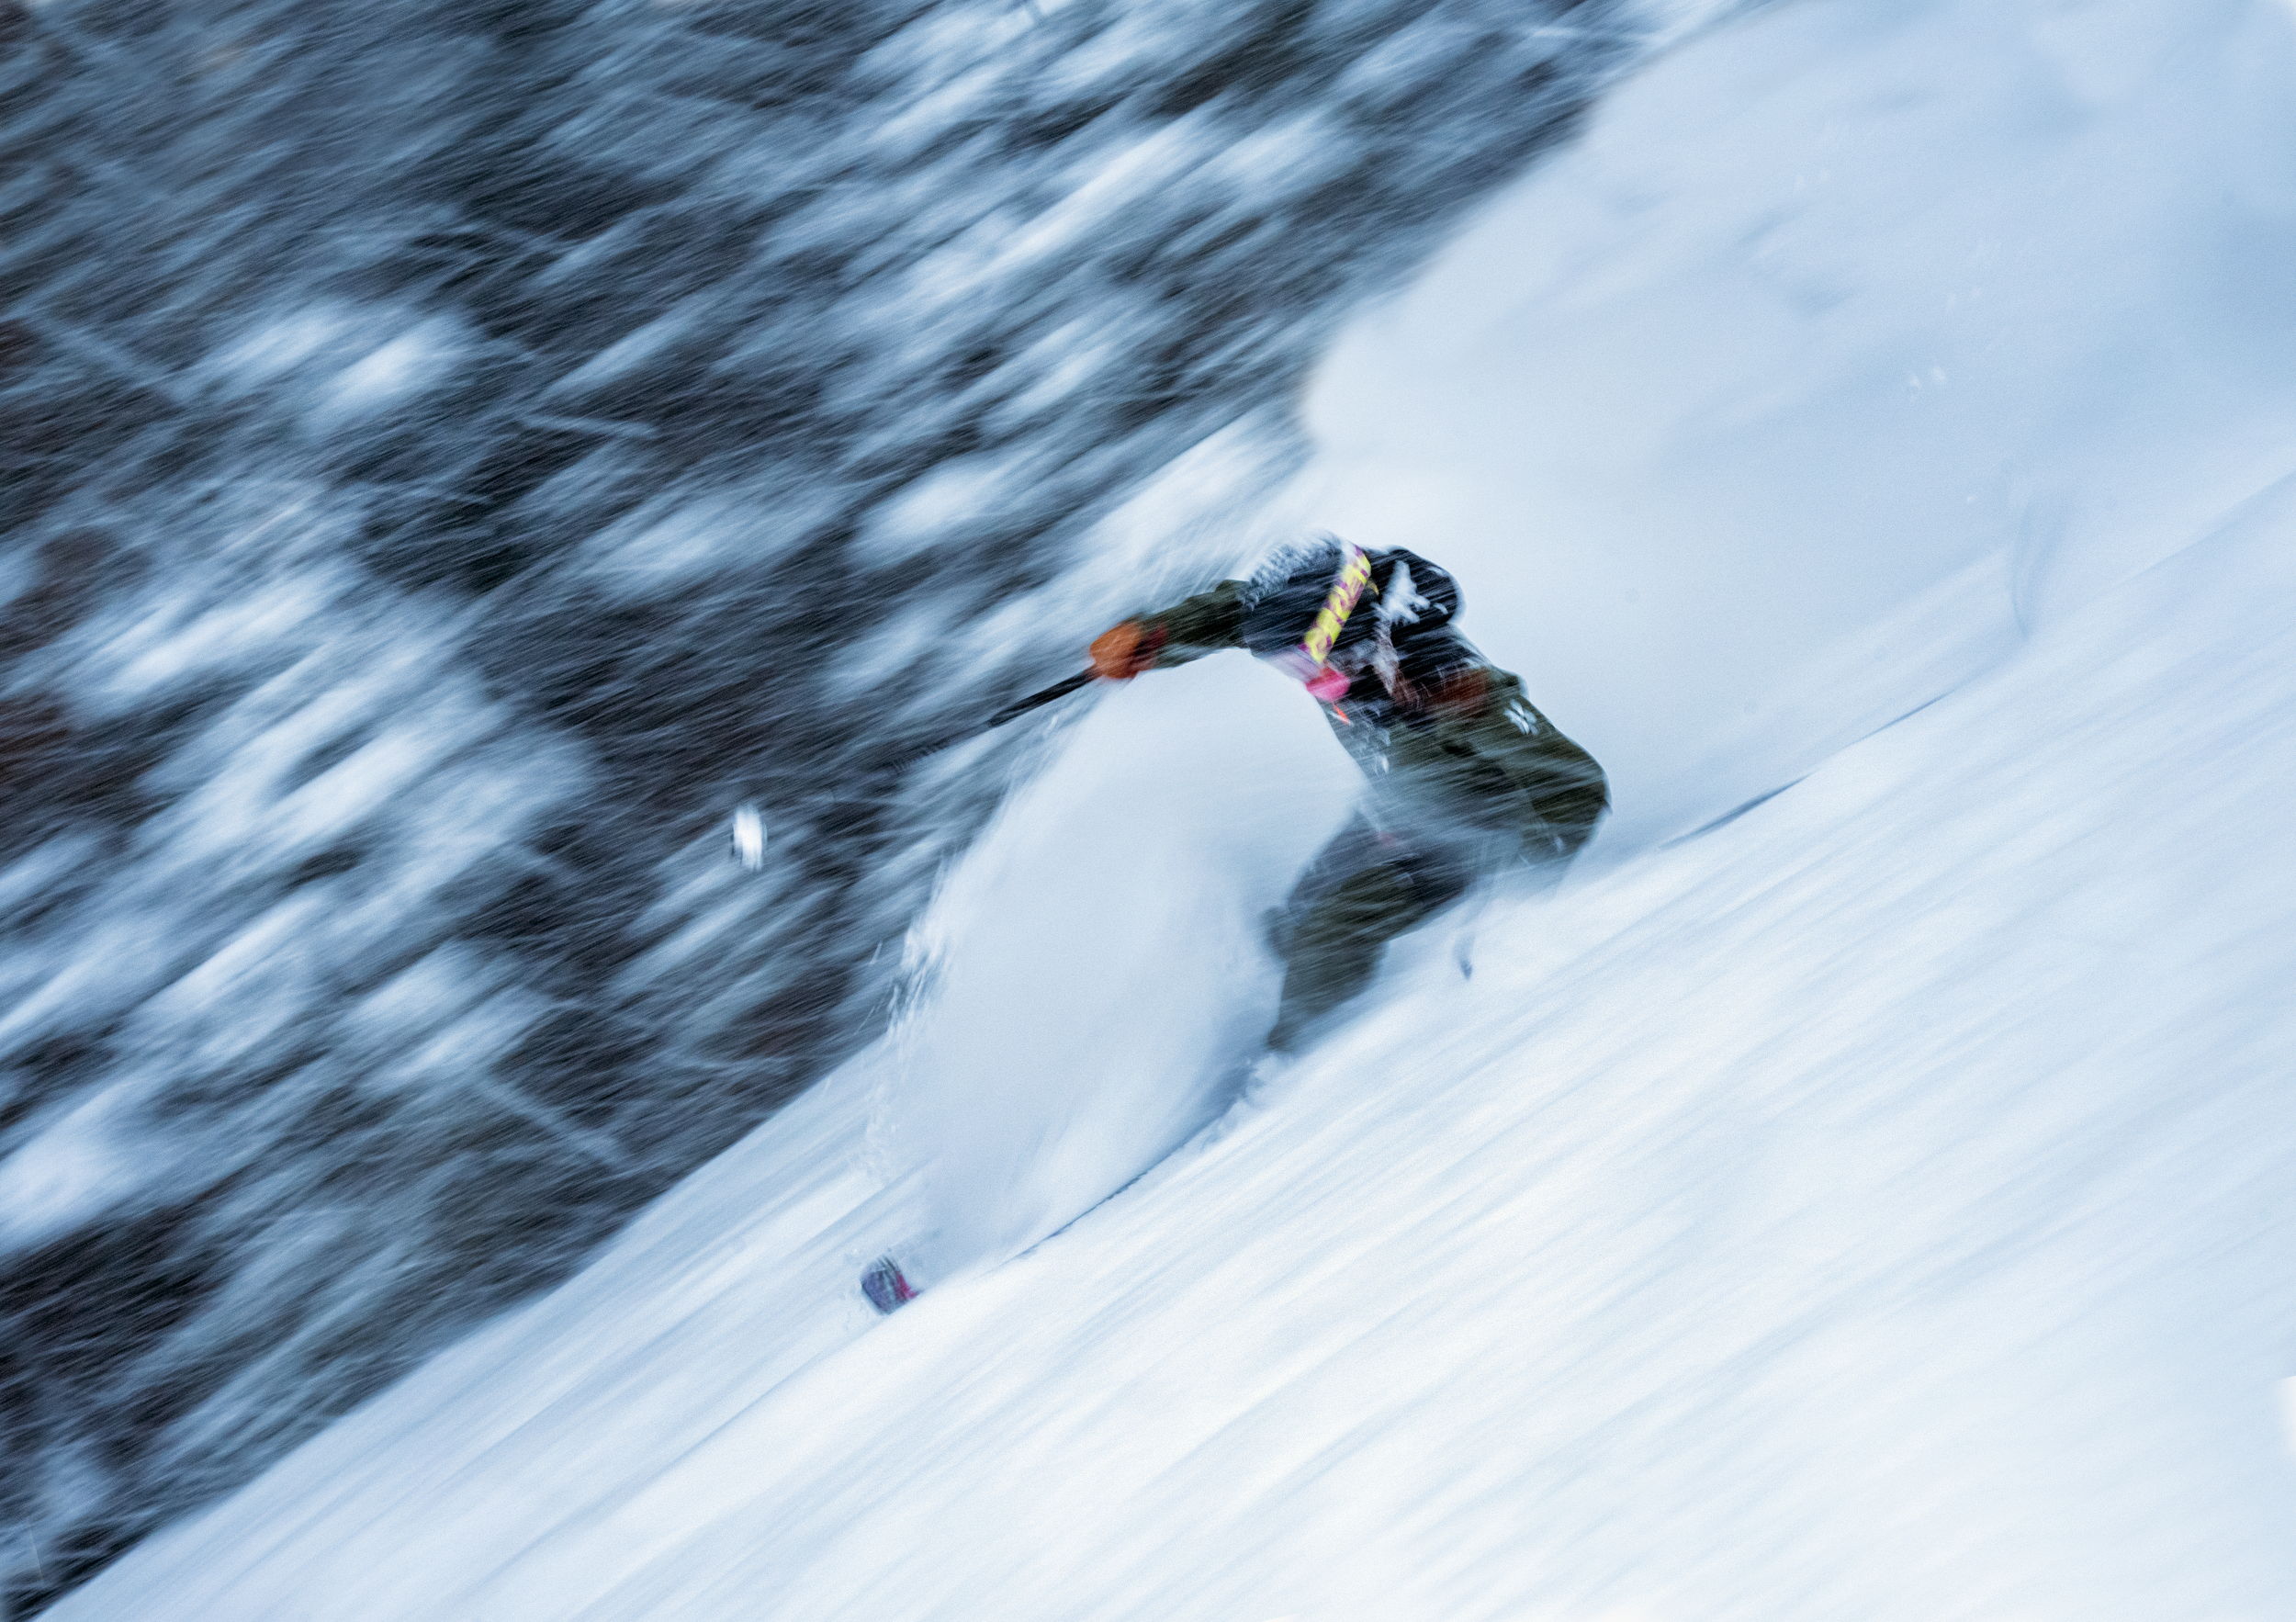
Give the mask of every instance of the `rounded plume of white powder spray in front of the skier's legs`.
[(1297, 685), (1231, 652), (1109, 696), (1015, 795), (870, 1059), (877, 1160), (921, 1183), (912, 1280), (1003, 1261), (1212, 1121), (1277, 1013), (1261, 919), (1357, 783)]

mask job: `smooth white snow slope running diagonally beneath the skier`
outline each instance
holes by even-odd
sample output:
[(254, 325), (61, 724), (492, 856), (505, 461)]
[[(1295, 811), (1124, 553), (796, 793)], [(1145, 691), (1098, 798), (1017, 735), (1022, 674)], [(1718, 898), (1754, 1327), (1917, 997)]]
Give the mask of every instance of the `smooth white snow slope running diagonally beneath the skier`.
[(831, 1084), (57, 1615), (2285, 1615), (2291, 538), (882, 1323)]

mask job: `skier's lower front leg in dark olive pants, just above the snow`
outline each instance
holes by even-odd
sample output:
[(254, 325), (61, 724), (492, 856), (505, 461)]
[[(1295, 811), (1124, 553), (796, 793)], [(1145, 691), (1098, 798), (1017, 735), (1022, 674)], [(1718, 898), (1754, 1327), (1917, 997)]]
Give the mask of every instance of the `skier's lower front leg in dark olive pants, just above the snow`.
[[(1350, 822), (1300, 875), (1272, 924), (1283, 1006), (1267, 1045), (1290, 1052), (1352, 1002), (1396, 935), (1426, 924), (1506, 862), (1506, 845), (1467, 832), (1382, 832)], [(1520, 845), (1515, 845), (1520, 850)]]

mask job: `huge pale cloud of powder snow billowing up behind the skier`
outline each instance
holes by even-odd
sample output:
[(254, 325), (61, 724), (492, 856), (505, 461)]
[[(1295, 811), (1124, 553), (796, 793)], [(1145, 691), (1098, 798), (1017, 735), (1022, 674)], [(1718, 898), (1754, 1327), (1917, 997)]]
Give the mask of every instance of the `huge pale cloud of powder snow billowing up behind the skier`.
[(1798, 0), (1630, 83), (1325, 368), (1306, 517), (1678, 834), (2289, 466), (2273, 0)]

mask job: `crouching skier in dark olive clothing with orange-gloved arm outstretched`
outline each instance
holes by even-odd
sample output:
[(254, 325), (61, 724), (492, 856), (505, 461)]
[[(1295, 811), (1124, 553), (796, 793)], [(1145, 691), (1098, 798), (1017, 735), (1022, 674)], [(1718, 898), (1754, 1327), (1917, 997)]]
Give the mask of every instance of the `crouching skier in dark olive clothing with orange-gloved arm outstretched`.
[(1609, 809), (1603, 767), (1458, 634), (1458, 584), (1417, 551), (1325, 535), (1093, 641), (1107, 680), (1247, 648), (1306, 682), (1368, 777), (1355, 820), (1272, 917), (1277, 1052), (1327, 1027), (1389, 940), (1483, 875), (1559, 875)]

